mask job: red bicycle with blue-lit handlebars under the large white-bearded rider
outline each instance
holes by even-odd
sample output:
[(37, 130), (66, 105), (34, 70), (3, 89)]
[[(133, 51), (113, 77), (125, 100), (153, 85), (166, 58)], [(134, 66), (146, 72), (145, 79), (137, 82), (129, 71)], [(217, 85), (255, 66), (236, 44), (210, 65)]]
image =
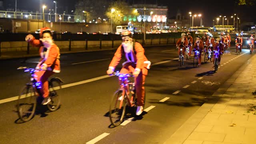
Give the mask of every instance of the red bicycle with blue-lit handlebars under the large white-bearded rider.
[[(128, 77), (133, 76), (133, 74), (120, 74), (119, 72), (114, 72), (113, 75), (118, 76), (120, 82), (120, 87), (111, 98), (109, 107), (109, 118), (113, 126), (120, 125), (124, 120), (124, 115), (126, 108), (134, 108), (134, 114), (137, 109), (137, 96), (135, 83), (128, 80)], [(144, 97), (144, 106), (145, 106)], [(143, 107), (144, 107), (143, 106)]]

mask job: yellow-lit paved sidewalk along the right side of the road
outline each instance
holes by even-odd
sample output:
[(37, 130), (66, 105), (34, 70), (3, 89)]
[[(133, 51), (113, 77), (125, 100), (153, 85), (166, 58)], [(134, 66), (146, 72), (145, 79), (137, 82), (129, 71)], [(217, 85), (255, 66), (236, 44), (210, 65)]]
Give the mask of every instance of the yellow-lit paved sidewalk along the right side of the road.
[[(255, 144), (256, 55), (164, 144)], [(255, 107), (254, 107), (255, 106)]]

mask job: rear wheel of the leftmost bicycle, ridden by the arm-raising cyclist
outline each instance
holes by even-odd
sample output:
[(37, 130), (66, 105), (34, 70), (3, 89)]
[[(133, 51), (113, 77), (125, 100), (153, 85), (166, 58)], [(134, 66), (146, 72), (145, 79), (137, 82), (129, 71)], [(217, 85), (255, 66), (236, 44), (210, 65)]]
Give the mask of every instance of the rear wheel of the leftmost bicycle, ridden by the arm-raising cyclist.
[(61, 88), (60, 82), (58, 78), (52, 78), (49, 81), (49, 96), (51, 101), (47, 104), (47, 107), (51, 112), (58, 110), (60, 107), (60, 95), (57, 94), (57, 90)]

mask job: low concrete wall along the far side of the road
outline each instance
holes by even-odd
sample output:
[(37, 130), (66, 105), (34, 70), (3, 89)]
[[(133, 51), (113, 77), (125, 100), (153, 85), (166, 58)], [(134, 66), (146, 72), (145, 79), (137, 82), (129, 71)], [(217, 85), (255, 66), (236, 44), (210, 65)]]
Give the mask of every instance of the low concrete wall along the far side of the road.
[[(164, 44), (174, 44), (178, 39), (174, 38), (161, 38), (161, 39), (146, 39), (146, 45), (164, 45)], [(122, 40), (114, 40), (114, 48), (120, 46)], [(142, 40), (137, 40), (142, 44)], [(69, 41), (55, 41), (54, 42), (59, 48), (60, 51), (67, 51), (69, 48)], [(100, 49), (100, 41), (88, 41), (88, 50)], [(112, 48), (112, 41), (102, 41), (102, 49)], [(27, 51), (27, 42), (1, 42), (1, 52), (20, 52)], [(39, 48), (33, 47), (30, 45), (30, 51), (38, 51)], [(71, 41), (71, 50), (86, 50), (86, 41)]]

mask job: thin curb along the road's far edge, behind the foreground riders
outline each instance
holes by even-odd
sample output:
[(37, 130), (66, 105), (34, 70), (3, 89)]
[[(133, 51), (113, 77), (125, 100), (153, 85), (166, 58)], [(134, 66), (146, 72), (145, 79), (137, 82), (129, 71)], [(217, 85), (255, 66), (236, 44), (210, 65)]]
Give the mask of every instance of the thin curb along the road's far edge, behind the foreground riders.
[[(146, 45), (143, 48), (150, 48), (154, 46), (175, 46), (175, 44), (165, 44), (165, 45)], [(98, 49), (98, 50), (79, 50), (79, 51), (65, 51), (60, 52), (60, 54), (73, 54), (73, 53), (82, 53), (82, 52), (96, 52), (96, 51), (105, 51), (105, 50), (116, 50), (117, 48), (106, 48), (106, 49)], [(24, 54), (21, 56), (0, 56), (0, 60), (10, 60), (10, 59), (18, 59), (18, 58), (33, 58), (38, 57), (39, 54)]]

